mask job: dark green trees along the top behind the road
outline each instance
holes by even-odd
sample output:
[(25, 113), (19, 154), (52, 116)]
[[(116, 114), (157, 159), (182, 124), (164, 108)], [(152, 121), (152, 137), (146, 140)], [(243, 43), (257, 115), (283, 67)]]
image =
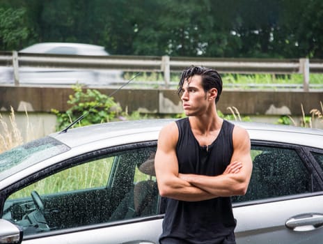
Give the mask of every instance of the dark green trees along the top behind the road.
[(3, 50), (62, 41), (123, 55), (323, 58), (321, 0), (2, 0), (0, 9)]

